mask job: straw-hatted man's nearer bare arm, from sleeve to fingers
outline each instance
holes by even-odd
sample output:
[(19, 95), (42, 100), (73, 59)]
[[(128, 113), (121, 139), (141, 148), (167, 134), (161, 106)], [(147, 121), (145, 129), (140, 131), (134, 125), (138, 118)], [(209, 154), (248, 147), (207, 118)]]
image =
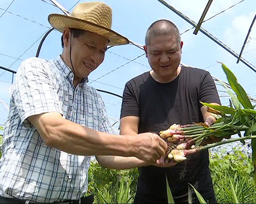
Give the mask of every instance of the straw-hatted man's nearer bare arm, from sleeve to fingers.
[(135, 156), (154, 163), (167, 146), (155, 134), (134, 136), (99, 132), (62, 118), (57, 112), (28, 117), (49, 147), (77, 155)]

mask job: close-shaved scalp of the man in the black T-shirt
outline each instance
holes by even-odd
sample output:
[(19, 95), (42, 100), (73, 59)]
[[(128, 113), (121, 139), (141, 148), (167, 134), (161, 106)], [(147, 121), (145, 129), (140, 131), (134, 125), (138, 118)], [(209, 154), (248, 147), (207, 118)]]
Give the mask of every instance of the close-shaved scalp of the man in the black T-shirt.
[(145, 45), (148, 46), (151, 38), (158, 35), (174, 35), (176, 36), (177, 43), (181, 42), (181, 36), (178, 28), (174, 23), (165, 19), (155, 21), (151, 26), (149, 26), (146, 32)]

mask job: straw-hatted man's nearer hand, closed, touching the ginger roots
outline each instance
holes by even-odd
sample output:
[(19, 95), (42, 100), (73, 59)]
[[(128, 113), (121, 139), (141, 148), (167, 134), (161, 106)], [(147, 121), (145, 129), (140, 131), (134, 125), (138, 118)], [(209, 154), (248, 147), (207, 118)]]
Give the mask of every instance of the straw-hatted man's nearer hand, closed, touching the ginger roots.
[(135, 157), (149, 165), (156, 164), (156, 160), (165, 155), (167, 143), (157, 134), (142, 133), (135, 140)]

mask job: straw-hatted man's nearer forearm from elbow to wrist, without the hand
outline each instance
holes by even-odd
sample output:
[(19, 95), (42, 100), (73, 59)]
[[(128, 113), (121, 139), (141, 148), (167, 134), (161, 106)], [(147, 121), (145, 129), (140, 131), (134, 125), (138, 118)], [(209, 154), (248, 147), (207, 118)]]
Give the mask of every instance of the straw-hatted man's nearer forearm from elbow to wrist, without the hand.
[(50, 124), (41, 119), (38, 124), (39, 127), (36, 127), (36, 129), (46, 142), (46, 145), (67, 153), (77, 155), (120, 155), (125, 157), (134, 155), (134, 152), (131, 152), (130, 145), (135, 142), (135, 139), (131, 136), (99, 132), (63, 118), (51, 121)]

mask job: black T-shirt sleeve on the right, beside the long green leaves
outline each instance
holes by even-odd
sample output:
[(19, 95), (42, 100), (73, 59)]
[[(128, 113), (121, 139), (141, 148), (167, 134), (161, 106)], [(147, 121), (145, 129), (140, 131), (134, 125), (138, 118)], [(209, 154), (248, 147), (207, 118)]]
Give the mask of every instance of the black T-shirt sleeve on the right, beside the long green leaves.
[[(214, 80), (209, 72), (202, 75), (200, 91), (199, 91), (199, 100), (204, 103), (219, 103), (220, 99), (218, 95), (218, 91), (216, 89), (216, 85)], [(200, 107), (203, 105), (200, 103)]]

